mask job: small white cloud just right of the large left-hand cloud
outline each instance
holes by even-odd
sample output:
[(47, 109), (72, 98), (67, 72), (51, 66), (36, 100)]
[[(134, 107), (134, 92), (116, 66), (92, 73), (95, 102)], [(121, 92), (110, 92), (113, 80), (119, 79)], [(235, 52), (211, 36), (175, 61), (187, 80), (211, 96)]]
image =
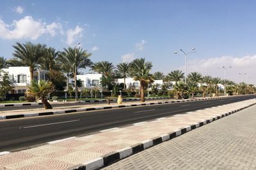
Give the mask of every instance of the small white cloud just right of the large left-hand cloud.
[(79, 26), (76, 26), (75, 29), (68, 29), (66, 43), (68, 45), (72, 45), (74, 42), (76, 42), (78, 38), (83, 36), (83, 30), (84, 29)]

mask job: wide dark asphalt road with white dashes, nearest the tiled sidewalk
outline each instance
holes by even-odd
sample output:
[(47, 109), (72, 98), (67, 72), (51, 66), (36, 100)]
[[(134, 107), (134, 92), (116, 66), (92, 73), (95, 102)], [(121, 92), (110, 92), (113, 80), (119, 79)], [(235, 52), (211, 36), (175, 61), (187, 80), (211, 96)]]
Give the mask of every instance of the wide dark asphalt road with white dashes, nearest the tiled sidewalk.
[(107, 128), (131, 125), (131, 123), (252, 98), (255, 98), (255, 95), (4, 120), (0, 122), (0, 151), (22, 150), (57, 139), (92, 134)]

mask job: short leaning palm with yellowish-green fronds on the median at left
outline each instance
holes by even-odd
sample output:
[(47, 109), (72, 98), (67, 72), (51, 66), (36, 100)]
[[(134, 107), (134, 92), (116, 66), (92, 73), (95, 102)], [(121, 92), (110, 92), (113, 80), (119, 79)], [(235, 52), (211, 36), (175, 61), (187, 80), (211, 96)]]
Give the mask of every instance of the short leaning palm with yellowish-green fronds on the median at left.
[(45, 109), (52, 109), (52, 106), (49, 104), (46, 97), (53, 91), (53, 88), (54, 85), (51, 81), (32, 81), (31, 86), (28, 86), (28, 92), (39, 97), (42, 100)]

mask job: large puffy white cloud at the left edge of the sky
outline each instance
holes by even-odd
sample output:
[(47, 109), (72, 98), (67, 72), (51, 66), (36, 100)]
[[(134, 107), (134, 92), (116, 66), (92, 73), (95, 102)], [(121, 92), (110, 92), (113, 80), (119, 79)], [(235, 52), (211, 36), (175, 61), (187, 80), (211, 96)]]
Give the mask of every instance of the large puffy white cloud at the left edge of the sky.
[(60, 23), (52, 22), (52, 24), (47, 25), (40, 20), (34, 20), (31, 16), (26, 16), (20, 20), (13, 20), (11, 25), (4, 23), (0, 19), (0, 38), (3, 39), (17, 40), (28, 38), (36, 40), (44, 34), (54, 36), (56, 31), (63, 32)]

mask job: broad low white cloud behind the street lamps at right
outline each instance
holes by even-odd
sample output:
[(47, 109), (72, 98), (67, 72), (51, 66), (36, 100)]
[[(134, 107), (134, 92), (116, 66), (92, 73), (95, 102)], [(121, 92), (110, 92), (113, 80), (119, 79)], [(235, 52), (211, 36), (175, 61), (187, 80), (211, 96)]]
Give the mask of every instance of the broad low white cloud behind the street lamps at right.
[[(222, 67), (225, 66), (227, 68), (232, 66), (226, 70), (227, 79), (240, 82), (241, 76), (239, 76), (239, 73), (246, 73), (243, 76), (243, 81), (255, 84), (253, 79), (249, 79), (249, 77), (255, 77), (255, 63), (256, 55), (241, 58), (222, 56), (219, 58), (191, 59), (187, 63), (187, 73), (200, 72), (202, 75), (211, 75), (212, 77), (221, 77), (221, 79), (224, 79), (224, 70)], [(180, 69), (184, 70), (184, 67)]]

